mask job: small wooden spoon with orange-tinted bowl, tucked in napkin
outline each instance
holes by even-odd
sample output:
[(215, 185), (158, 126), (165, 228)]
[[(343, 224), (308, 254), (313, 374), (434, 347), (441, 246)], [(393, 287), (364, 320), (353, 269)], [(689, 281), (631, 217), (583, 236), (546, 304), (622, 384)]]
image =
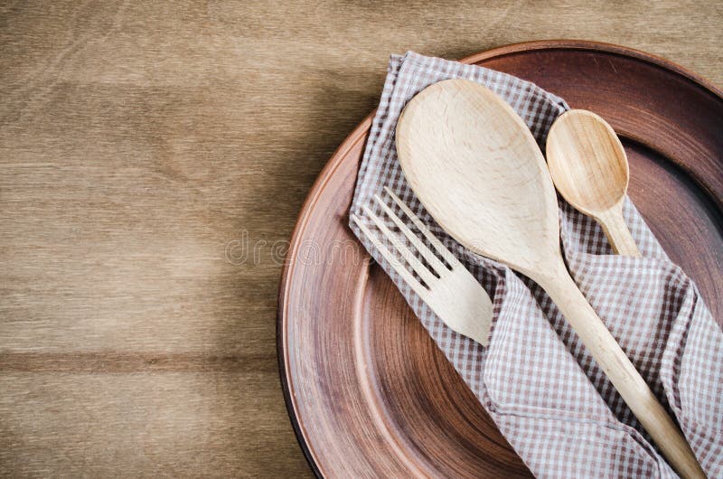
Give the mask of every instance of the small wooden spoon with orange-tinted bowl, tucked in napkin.
[(613, 127), (592, 111), (571, 109), (549, 129), (547, 154), (562, 197), (602, 225), (616, 254), (640, 256), (623, 218), (630, 170)]

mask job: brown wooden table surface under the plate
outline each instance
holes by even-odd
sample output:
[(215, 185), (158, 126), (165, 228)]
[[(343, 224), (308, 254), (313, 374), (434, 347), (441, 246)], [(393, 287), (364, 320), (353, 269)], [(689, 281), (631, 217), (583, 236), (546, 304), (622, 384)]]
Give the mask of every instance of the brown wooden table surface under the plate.
[(305, 476), (286, 240), (391, 52), (585, 38), (718, 85), (709, 2), (5, 2), (0, 475)]

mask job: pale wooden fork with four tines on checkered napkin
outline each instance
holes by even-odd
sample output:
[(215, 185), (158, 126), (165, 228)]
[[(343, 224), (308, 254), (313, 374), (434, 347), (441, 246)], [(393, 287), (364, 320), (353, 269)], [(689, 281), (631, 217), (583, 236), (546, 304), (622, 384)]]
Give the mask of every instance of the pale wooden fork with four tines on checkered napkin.
[[(364, 234), (374, 243), (374, 246), (380, 250), (384, 258), (389, 261), (390, 265), (404, 278), (404, 281), (414, 289), (414, 292), (429, 306), (432, 311), (452, 330), (457, 333), (474, 339), (477, 343), (486, 346), (488, 343), (488, 334), (490, 325), (492, 324), (492, 300), (484, 288), (480, 286), (472, 273), (467, 271), (465, 266), (459, 262), (449, 249), (440, 240), (437, 240), (427, 226), (419, 220), (418, 216), (409, 210), (408, 206), (402, 202), (399, 197), (392, 191), (384, 188), (390, 198), (397, 203), (401, 211), (407, 215), (409, 220), (414, 223), (417, 229), (429, 241), (432, 247), (445, 262), (437, 258), (436, 254), (428, 249), (427, 246), (419, 240), (418, 236), (404, 224), (399, 217), (391, 211), (391, 208), (383, 202), (378, 194), (374, 195), (374, 200), (380, 205), (381, 209), (387, 216), (394, 221), (397, 228), (404, 233), (404, 236), (414, 246), (419, 254), (427, 261), (429, 268), (425, 266), (399, 239), (399, 237), (391, 232), (384, 221), (374, 214), (371, 209), (365, 207), (364, 211), (371, 218), (371, 221), (380, 229), (383, 240), (380, 240), (356, 215), (352, 215), (354, 221)], [(418, 277), (424, 281), (424, 285), (418, 281), (414, 275), (409, 272), (403, 262), (394, 255), (387, 245), (392, 245), (394, 249), (404, 258), (404, 262), (411, 267)], [(446, 264), (445, 264), (446, 263)]]

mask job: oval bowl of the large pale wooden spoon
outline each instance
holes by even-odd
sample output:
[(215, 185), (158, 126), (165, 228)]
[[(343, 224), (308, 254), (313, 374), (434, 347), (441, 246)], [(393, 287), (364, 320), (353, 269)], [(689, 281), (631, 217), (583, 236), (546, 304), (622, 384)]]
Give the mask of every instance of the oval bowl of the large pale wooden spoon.
[(427, 211), (467, 249), (530, 277), (558, 266), (558, 204), (545, 160), (493, 91), (465, 80), (424, 89), (399, 117), (397, 151)]

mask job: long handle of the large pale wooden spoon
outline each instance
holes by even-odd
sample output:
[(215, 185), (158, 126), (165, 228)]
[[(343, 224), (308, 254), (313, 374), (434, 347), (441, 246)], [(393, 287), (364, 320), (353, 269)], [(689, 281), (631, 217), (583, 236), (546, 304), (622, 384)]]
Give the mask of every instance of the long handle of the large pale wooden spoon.
[(681, 430), (662, 408), (653, 391), (560, 262), (547, 284), (538, 283), (558, 305), (587, 350), (593, 355), (615, 389), (633, 411), (671, 466), (686, 478), (705, 477)]

